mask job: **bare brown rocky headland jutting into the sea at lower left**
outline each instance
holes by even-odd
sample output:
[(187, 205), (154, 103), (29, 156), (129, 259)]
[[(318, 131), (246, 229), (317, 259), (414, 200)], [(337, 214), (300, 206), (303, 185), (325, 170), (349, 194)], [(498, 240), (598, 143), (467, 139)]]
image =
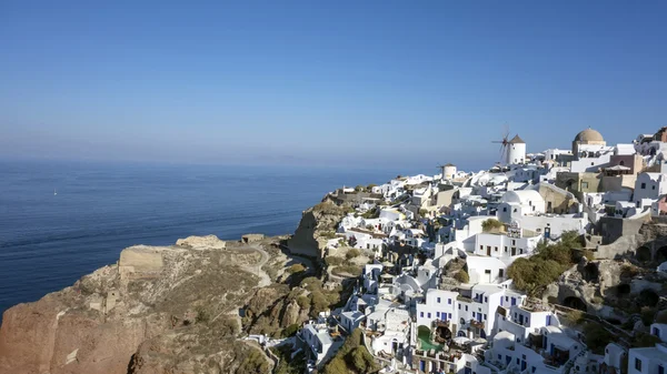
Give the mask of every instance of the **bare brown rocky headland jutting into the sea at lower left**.
[(267, 261), (261, 244), (215, 236), (126, 249), (118, 264), (6, 311), (0, 373), (270, 372), (236, 340), (238, 307), (268, 279)]

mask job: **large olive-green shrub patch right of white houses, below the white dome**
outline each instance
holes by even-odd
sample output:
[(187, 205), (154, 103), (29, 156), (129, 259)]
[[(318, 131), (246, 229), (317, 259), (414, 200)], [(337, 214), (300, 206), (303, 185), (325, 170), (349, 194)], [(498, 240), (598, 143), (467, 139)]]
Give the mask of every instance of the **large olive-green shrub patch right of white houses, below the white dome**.
[(545, 287), (578, 261), (581, 247), (579, 234), (567, 231), (555, 244), (540, 242), (528, 259), (517, 259), (507, 270), (514, 285), (530, 296), (539, 296)]

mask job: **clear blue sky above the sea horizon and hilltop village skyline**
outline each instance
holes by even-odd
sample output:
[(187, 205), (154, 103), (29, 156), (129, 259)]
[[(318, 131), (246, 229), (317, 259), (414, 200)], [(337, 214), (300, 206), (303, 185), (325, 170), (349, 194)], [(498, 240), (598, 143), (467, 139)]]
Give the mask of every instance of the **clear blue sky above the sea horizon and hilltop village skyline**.
[(0, 158), (484, 166), (667, 125), (665, 1), (0, 2)]

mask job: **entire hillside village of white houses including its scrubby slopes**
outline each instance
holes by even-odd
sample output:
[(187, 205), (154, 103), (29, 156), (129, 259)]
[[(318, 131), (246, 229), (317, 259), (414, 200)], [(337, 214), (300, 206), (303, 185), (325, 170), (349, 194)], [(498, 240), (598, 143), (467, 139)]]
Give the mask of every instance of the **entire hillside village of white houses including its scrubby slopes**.
[(342, 188), (305, 214), (318, 253), (302, 254), (351, 291), (291, 357), (320, 373), (664, 374), (667, 128), (526, 145), (506, 137), (489, 170)]

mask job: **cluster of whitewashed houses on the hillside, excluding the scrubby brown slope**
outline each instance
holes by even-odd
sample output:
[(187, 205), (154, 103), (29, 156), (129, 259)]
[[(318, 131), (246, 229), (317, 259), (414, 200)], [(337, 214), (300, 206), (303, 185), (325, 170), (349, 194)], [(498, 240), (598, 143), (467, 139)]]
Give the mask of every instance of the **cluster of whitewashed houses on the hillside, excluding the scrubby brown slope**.
[[(439, 175), (371, 188), (376, 198), (348, 214), (329, 241), (376, 257), (347, 305), (332, 313), (336, 328), (362, 328), (386, 373), (665, 374), (666, 343), (610, 343), (604, 355), (593, 354), (551, 306), (514, 291), (507, 269), (540, 241), (590, 233), (605, 216), (666, 215), (667, 128), (616, 145), (586, 129), (571, 150), (534, 154), (517, 135), (506, 155), (489, 171), (446, 164)], [(465, 263), (467, 283), (452, 282), (452, 263)], [(298, 334), (316, 365), (341, 344), (331, 331), (320, 321)], [(650, 333), (667, 342), (667, 325), (653, 324)]]

